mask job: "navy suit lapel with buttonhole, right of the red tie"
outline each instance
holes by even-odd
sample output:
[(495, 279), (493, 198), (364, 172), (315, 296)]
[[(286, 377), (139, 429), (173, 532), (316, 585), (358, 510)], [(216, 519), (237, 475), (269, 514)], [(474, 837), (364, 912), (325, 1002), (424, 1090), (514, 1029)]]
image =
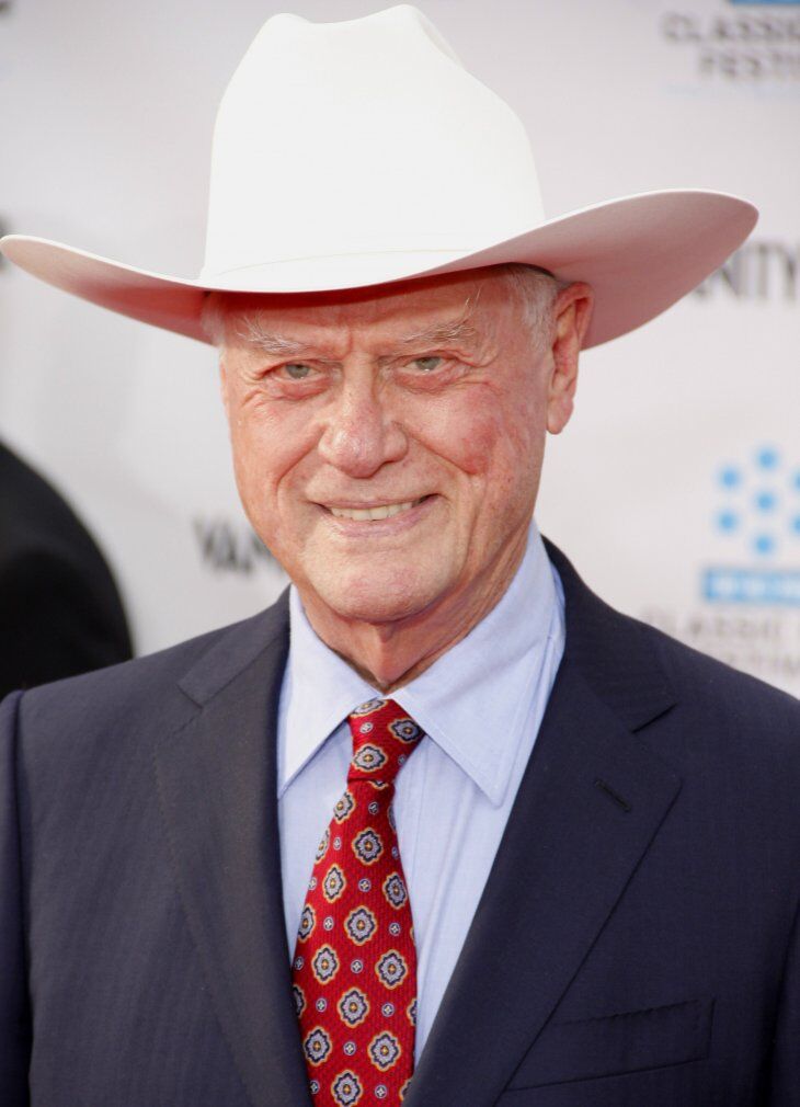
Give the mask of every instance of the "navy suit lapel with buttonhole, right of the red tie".
[(567, 593), (567, 650), (406, 1107), (496, 1101), (679, 789), (632, 733), (673, 702), (648, 640), (550, 554)]

